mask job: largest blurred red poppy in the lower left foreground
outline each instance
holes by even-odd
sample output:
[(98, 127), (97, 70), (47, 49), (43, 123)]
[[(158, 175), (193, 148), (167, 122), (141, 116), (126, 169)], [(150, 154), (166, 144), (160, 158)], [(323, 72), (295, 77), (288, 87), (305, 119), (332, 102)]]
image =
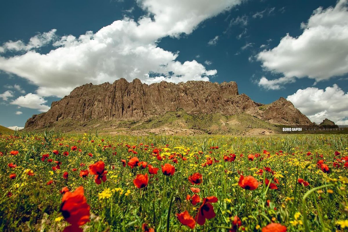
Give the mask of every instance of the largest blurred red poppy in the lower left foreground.
[(65, 192), (60, 211), (71, 227), (77, 228), (89, 222), (89, 205), (84, 195), (84, 187), (78, 187), (74, 192)]

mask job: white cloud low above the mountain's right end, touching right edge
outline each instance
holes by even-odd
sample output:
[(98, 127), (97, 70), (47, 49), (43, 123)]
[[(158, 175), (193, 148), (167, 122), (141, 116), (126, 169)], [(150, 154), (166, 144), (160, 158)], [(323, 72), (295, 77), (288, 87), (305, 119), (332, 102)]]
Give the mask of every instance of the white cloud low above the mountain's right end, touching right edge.
[(315, 87), (299, 89), (286, 99), (311, 121), (321, 123), (328, 118), (337, 125), (348, 125), (348, 93), (336, 84), (325, 89)]

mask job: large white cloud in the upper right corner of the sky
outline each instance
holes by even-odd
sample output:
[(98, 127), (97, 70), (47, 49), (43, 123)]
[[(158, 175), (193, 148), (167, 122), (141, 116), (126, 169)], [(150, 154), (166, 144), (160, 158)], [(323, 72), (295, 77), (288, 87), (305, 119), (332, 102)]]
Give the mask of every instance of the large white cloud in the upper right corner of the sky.
[(347, 0), (313, 11), (299, 37), (287, 34), (279, 45), (258, 54), (262, 67), (285, 77), (327, 80), (348, 73)]

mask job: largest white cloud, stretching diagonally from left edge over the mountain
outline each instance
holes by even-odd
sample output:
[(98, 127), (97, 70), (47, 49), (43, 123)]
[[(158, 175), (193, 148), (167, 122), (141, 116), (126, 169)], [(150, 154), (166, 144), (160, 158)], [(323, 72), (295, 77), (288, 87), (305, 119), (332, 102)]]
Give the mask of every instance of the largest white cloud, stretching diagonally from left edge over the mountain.
[[(41, 96), (58, 97), (85, 83), (114, 82), (122, 77), (144, 83), (209, 80), (216, 70), (206, 70), (195, 60), (180, 63), (178, 53), (158, 47), (157, 42), (166, 36), (190, 34), (201, 22), (242, 1), (137, 0), (147, 11), (137, 21), (125, 17), (96, 33), (55, 38), (56, 48), (47, 54), (29, 50), (23, 55), (0, 56), (0, 70), (37, 85), (36, 93)], [(149, 77), (149, 73), (160, 75)]]

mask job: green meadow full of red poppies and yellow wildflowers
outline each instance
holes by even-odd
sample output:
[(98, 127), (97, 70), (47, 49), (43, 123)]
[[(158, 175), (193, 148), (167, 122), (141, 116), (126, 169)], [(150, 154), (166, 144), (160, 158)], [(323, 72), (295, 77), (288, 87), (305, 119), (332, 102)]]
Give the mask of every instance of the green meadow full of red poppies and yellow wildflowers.
[(0, 136), (0, 231), (346, 231), (348, 136)]

